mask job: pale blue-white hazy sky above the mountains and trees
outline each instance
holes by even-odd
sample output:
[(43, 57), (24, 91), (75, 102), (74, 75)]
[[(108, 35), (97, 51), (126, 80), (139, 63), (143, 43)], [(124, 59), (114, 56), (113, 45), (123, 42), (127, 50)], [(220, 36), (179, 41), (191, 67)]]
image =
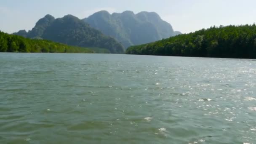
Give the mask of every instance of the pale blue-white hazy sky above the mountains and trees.
[(0, 30), (30, 30), (46, 14), (83, 19), (101, 10), (129, 10), (154, 11), (175, 31), (189, 33), (214, 25), (253, 24), (255, 7), (256, 0), (0, 0)]

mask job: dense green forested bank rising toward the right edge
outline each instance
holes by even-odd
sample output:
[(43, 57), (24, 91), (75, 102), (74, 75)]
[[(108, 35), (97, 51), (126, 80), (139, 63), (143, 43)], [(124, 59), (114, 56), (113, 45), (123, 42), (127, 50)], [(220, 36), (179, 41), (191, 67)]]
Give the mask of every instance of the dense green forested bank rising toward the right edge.
[(256, 25), (211, 27), (155, 43), (132, 46), (126, 53), (256, 59)]

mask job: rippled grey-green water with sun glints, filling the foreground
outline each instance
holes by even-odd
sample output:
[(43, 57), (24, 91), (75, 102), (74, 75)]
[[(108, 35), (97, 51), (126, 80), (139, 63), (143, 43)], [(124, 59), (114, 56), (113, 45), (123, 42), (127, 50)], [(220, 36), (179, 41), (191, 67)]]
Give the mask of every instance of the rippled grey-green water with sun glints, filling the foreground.
[(0, 53), (0, 144), (255, 144), (256, 61)]

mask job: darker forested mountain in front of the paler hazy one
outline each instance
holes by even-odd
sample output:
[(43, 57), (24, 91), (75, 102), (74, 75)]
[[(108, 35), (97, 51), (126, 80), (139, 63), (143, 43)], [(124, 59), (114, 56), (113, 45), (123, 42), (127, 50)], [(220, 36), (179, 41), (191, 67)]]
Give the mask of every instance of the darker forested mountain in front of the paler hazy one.
[(123, 46), (114, 38), (104, 35), (72, 15), (58, 19), (46, 15), (37, 21), (35, 27), (29, 32), (21, 30), (13, 34), (79, 47), (105, 48), (111, 53), (124, 53)]

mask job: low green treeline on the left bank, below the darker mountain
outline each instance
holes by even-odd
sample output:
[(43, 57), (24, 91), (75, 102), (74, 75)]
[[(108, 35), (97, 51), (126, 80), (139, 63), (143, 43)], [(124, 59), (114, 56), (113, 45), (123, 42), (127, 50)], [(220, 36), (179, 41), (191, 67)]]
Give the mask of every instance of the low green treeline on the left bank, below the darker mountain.
[(49, 40), (31, 40), (4, 32), (0, 32), (0, 52), (95, 53), (95, 51), (89, 48), (69, 46)]

